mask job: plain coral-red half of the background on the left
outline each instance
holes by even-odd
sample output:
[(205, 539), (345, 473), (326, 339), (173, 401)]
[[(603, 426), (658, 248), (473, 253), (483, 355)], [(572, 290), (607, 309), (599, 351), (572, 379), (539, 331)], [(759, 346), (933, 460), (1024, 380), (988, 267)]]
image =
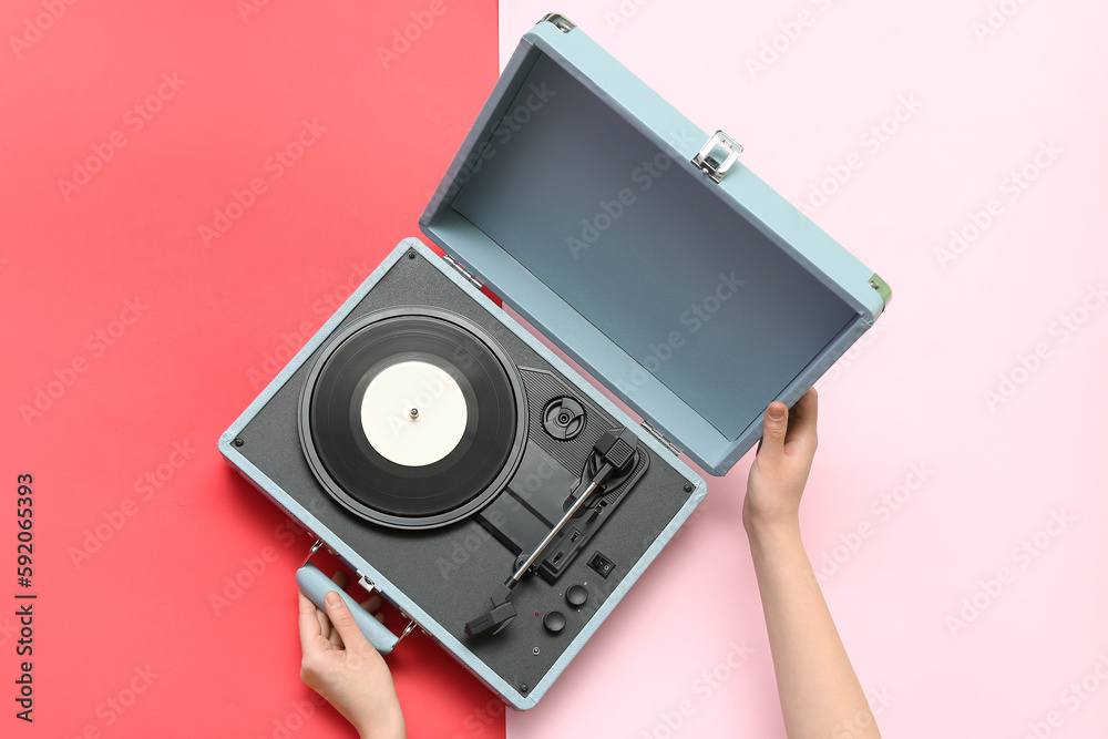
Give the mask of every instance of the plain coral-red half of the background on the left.
[[(495, 81), (496, 8), (246, 7), (0, 10), (0, 602), (39, 596), (33, 725), (13, 716), (18, 625), (0, 606), (0, 733), (353, 736), (298, 678), (293, 576), (311, 542), (216, 441), (287, 345), (418, 235)], [(326, 131), (274, 176), (305, 121)], [(236, 193), (248, 207), (227, 214)], [(225, 233), (206, 245), (202, 226)], [(422, 636), (390, 664), (410, 736), (503, 736), (500, 702)]]

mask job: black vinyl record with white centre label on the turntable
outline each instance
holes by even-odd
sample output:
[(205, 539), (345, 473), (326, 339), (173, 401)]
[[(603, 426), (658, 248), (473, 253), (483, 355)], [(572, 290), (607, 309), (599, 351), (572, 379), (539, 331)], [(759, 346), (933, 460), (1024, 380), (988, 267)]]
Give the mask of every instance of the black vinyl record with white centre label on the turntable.
[(389, 526), (480, 509), (523, 454), (515, 366), (471, 321), (412, 306), (370, 314), (320, 349), (300, 396), (300, 443), (327, 491)]

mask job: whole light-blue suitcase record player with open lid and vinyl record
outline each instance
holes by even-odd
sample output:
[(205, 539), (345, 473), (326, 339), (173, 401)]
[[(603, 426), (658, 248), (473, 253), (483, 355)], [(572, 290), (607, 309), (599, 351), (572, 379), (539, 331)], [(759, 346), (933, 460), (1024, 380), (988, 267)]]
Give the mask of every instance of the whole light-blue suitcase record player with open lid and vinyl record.
[(223, 434), (411, 619), (361, 618), (381, 651), (419, 626), (534, 706), (702, 500), (680, 452), (725, 474), (883, 310), (740, 152), (547, 16), (420, 218), (445, 256), (401, 242)]

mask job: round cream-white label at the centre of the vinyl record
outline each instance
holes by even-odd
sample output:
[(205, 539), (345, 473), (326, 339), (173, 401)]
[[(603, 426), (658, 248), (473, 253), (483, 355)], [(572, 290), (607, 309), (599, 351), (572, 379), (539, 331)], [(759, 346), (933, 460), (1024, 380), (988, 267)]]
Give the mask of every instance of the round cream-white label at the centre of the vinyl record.
[(469, 418), (454, 378), (429, 362), (398, 362), (378, 373), (361, 398), (361, 428), (377, 453), (425, 466), (454, 451)]

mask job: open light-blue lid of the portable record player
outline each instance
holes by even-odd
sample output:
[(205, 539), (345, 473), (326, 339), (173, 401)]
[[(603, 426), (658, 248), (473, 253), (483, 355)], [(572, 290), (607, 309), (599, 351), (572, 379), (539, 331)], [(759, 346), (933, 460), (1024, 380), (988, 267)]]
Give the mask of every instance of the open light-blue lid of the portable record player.
[(473, 277), (721, 475), (888, 286), (561, 16), (520, 42), (420, 217)]

